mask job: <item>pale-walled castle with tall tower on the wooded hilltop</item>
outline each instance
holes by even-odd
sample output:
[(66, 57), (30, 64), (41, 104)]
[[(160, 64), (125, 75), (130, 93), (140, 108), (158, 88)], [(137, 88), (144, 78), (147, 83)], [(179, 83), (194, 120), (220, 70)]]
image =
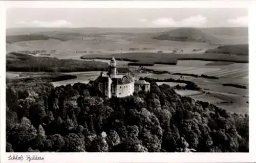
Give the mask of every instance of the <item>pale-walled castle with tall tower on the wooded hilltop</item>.
[(150, 83), (144, 80), (135, 79), (129, 68), (117, 67), (113, 57), (110, 60), (110, 70), (108, 74), (100, 73), (95, 80), (96, 88), (105, 96), (126, 97), (138, 91), (150, 91)]

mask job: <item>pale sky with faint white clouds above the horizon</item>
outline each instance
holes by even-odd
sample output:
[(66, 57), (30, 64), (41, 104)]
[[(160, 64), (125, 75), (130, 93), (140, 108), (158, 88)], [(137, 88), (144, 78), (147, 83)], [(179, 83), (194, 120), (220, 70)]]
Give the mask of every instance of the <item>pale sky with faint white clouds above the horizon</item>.
[(245, 8), (9, 8), (6, 28), (248, 27)]

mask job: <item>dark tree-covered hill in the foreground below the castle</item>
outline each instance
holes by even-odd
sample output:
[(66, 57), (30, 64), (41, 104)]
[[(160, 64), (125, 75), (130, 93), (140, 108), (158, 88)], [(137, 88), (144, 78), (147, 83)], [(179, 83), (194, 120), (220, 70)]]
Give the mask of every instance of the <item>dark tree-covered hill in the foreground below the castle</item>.
[(6, 91), (7, 152), (248, 152), (247, 114), (168, 85), (119, 99), (100, 96), (93, 82)]

